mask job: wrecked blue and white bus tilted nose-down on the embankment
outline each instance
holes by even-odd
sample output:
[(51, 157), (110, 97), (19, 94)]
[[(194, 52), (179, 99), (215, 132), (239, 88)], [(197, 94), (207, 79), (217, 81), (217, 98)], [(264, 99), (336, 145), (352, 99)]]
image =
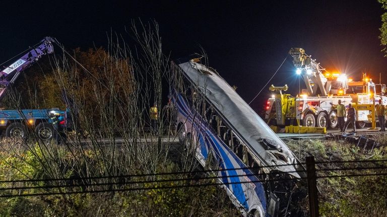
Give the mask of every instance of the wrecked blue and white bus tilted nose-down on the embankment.
[(297, 216), (306, 173), (284, 142), (214, 69), (193, 59), (171, 70), (180, 143), (214, 170), (244, 216)]

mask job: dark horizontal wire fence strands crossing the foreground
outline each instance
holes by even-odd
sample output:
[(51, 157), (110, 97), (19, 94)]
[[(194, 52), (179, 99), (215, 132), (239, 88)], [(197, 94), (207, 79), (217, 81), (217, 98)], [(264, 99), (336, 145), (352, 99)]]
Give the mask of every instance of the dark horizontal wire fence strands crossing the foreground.
[[(365, 161), (330, 161), (316, 162), (316, 164), (343, 164), (343, 163), (380, 163), (387, 160), (365, 160)], [(228, 168), (216, 170), (199, 170), (199, 171), (179, 171), (167, 173), (150, 173), (150, 174), (127, 174), (116, 176), (94, 176), (94, 177), (74, 177), (74, 178), (52, 178), (52, 179), (23, 179), (23, 180), (0, 180), (3, 185), (11, 185), (0, 187), (0, 197), (21, 197), (21, 196), (43, 196), (57, 194), (77, 194), (77, 193), (103, 193), (103, 192), (124, 192), (124, 191), (140, 191), (153, 189), (171, 189), (171, 188), (186, 188), (186, 187), (206, 187), (230, 184), (248, 184), (248, 183), (266, 183), (266, 182), (281, 182), (281, 181), (301, 181), (307, 179), (306, 176), (296, 177), (294, 174), (306, 172), (306, 170), (292, 171), (276, 171), (275, 173), (260, 173), (255, 175), (237, 174), (237, 175), (216, 175), (223, 174), (227, 171), (250, 170), (260, 168), (281, 168), (284, 166), (303, 165), (305, 163), (272, 165), (264, 167), (243, 167), (243, 168)], [(378, 171), (378, 172), (375, 172)], [(341, 178), (341, 177), (364, 177), (364, 176), (386, 176), (387, 165), (378, 166), (353, 166), (340, 168), (322, 168), (315, 169), (315, 172), (349, 172), (347, 174), (322, 174), (317, 175), (317, 179), (324, 178)], [(356, 173), (357, 172), (357, 173)], [(361, 173), (358, 173), (361, 172)], [(203, 177), (195, 175), (202, 174)], [(205, 175), (207, 174), (207, 175)], [(278, 178), (276, 175), (289, 174), (286, 178)], [(293, 174), (293, 175), (292, 175)], [(166, 177), (166, 176), (185, 176), (185, 177)], [(244, 177), (241, 179), (234, 179)], [(255, 178), (254, 178), (255, 177)], [(264, 177), (264, 178), (263, 178)], [(140, 179), (148, 180), (140, 180)], [(150, 178), (150, 179), (149, 179)], [(224, 181), (227, 180), (227, 181)], [(94, 181), (94, 182), (93, 182)], [(43, 182), (43, 183), (40, 183)], [(51, 182), (52, 184), (47, 184)], [(62, 182), (62, 183), (58, 183)], [(204, 182), (204, 183), (201, 183)], [(15, 186), (18, 185), (18, 186)], [(30, 185), (30, 186), (28, 186)], [(100, 186), (107, 189), (92, 189), (91, 187)], [(50, 190), (51, 189), (51, 190)], [(29, 192), (31, 190), (39, 190), (38, 192)], [(14, 191), (17, 191), (15, 193)]]

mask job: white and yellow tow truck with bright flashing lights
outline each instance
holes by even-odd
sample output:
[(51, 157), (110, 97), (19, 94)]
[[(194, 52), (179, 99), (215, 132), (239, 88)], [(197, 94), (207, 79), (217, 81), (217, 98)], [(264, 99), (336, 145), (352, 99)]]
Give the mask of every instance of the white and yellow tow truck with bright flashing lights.
[[(348, 107), (349, 103), (377, 104), (378, 99), (387, 103), (384, 96), (385, 84), (375, 84), (366, 73), (362, 74), (362, 81), (348, 79), (343, 73), (329, 73), (320, 66), (315, 59), (305, 54), (302, 48), (291, 48), (289, 54), (293, 58), (293, 65), (306, 85), (306, 89), (296, 96), (284, 94), (288, 89), (271, 86), (271, 98), (267, 100), (265, 119), (269, 125), (304, 126), (318, 128), (336, 128), (337, 111), (332, 106), (338, 104), (339, 99)], [(380, 92), (376, 93), (376, 86)], [(356, 127), (364, 128), (366, 123), (375, 121), (374, 113), (369, 110), (356, 111)]]

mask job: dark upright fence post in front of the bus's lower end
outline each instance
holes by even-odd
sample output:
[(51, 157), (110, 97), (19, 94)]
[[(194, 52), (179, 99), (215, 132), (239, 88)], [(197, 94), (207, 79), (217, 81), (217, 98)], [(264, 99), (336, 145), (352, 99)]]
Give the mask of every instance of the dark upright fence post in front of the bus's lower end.
[(316, 165), (313, 156), (305, 157), (306, 178), (309, 196), (309, 211), (311, 217), (318, 217), (318, 198), (316, 183)]

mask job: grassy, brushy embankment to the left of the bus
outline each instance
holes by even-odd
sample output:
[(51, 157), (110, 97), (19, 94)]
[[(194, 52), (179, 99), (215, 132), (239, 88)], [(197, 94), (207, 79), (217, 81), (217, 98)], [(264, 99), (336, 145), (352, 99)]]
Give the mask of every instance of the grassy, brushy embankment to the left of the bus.
[[(58, 146), (56, 144), (23, 144), (17, 140), (0, 141), (0, 180), (45, 179), (36, 182), (2, 182), (5, 194), (48, 194), (41, 196), (14, 196), (0, 198), (0, 216), (235, 216), (235, 210), (223, 190), (215, 186), (119, 191), (128, 188), (208, 183), (208, 181), (150, 182), (155, 179), (186, 178), (190, 174), (167, 176), (141, 176), (124, 178), (85, 179), (108, 175), (143, 174), (146, 170), (140, 161), (128, 164), (125, 146), (114, 155), (116, 166), (105, 165), (101, 155), (108, 150)], [(108, 147), (108, 146), (107, 146)], [(110, 155), (110, 157), (113, 155)], [(137, 159), (139, 160), (139, 159)], [(124, 162), (124, 163), (122, 163)], [(181, 171), (179, 161), (159, 162), (155, 173)], [(123, 166), (131, 165), (131, 168)], [(105, 167), (108, 166), (108, 167)], [(121, 170), (121, 171), (119, 171)], [(54, 178), (69, 178), (55, 181)], [(83, 178), (83, 179), (77, 179)], [(114, 182), (118, 184), (106, 184)], [(122, 184), (126, 182), (126, 184)], [(97, 184), (103, 185), (97, 185)], [(105, 185), (106, 184), (106, 185)], [(48, 187), (52, 185), (80, 185), (77, 187)], [(20, 189), (23, 187), (39, 187)], [(77, 193), (79, 191), (107, 191)], [(118, 190), (110, 192), (110, 190)], [(70, 194), (52, 194), (70, 192)], [(51, 195), (52, 194), (52, 195)]]

